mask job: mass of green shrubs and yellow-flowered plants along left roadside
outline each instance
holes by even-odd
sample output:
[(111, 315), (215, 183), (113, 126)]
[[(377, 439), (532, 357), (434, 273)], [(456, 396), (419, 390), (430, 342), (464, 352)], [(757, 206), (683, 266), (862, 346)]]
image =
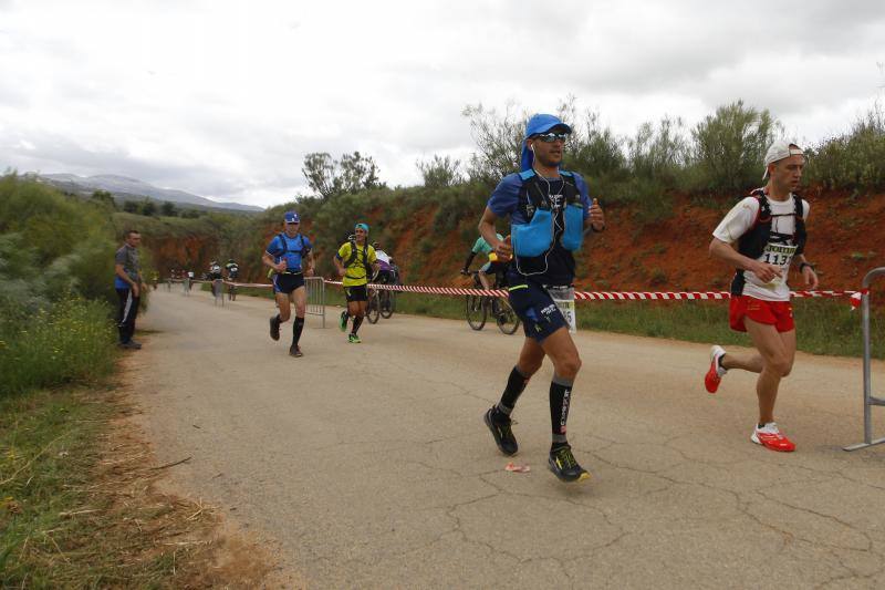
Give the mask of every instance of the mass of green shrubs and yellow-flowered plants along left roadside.
[(100, 199), (0, 178), (0, 396), (111, 371), (110, 211)]

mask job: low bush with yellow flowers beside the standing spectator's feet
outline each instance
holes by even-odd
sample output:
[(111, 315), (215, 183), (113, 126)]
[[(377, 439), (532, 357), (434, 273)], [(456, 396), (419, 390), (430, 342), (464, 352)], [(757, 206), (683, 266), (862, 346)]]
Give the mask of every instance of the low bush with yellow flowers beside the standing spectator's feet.
[(0, 394), (107, 374), (116, 356), (108, 317), (106, 303), (73, 299), (27, 322), (0, 324)]

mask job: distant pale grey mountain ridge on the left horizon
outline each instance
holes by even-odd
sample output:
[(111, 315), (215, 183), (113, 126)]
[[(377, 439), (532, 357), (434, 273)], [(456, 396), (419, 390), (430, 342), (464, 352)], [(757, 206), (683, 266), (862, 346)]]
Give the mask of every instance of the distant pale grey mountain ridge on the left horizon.
[(77, 176), (75, 174), (32, 174), (39, 182), (53, 185), (67, 193), (90, 195), (95, 190), (107, 190), (118, 200), (142, 200), (149, 198), (159, 203), (168, 200), (184, 207), (199, 209), (225, 209), (235, 211), (262, 211), (261, 207), (240, 203), (220, 203), (184, 190), (159, 188), (136, 178), (102, 174), (98, 176)]

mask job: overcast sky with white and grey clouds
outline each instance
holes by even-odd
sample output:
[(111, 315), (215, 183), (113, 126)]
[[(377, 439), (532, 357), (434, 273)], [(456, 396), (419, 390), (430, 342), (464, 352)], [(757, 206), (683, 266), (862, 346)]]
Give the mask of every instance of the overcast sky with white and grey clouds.
[(271, 206), (310, 152), (418, 184), (472, 151), (465, 105), (569, 95), (622, 134), (743, 99), (814, 141), (882, 96), (884, 40), (874, 0), (0, 0), (0, 168)]

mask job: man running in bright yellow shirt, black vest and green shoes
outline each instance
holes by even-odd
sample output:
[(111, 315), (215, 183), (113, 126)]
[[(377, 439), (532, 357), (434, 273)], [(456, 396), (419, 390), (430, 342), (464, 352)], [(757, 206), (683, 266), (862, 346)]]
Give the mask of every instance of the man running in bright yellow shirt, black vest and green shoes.
[(356, 332), (360, 330), (360, 324), (363, 323), (363, 318), (366, 314), (366, 304), (368, 303), (366, 284), (368, 284), (368, 278), (378, 271), (375, 248), (366, 241), (367, 237), (368, 226), (366, 224), (356, 224), (354, 239), (344, 242), (339, 248), (335, 258), (333, 258), (339, 276), (342, 277), (344, 296), (347, 298), (347, 310), (341, 312), (339, 327), (342, 332), (345, 331), (347, 329), (347, 319), (353, 318), (351, 333), (347, 337), (347, 342), (353, 343), (361, 342)]

